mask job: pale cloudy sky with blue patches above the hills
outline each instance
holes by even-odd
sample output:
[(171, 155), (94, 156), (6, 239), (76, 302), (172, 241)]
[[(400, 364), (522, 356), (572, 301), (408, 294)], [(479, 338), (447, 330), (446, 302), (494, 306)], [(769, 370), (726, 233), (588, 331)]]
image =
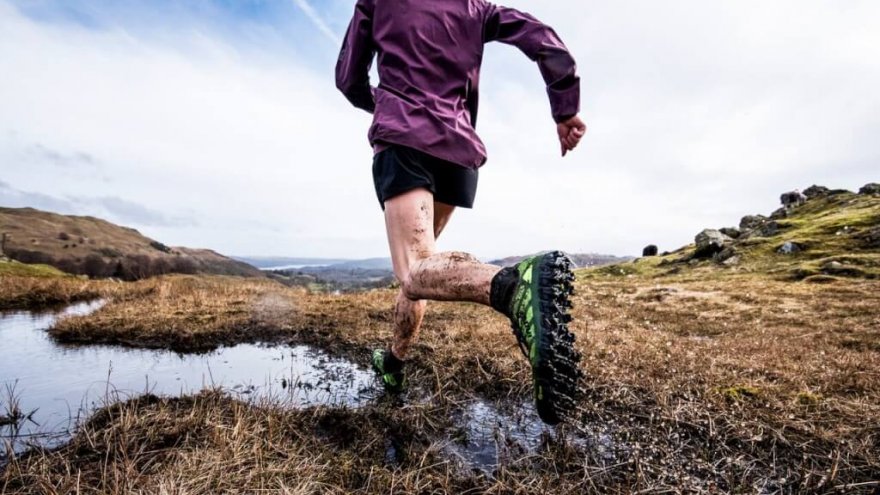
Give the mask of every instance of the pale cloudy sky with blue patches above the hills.
[[(880, 181), (880, 2), (506, 5), (573, 53), (587, 136), (560, 157), (537, 67), (488, 45), (489, 161), (441, 250), (672, 250), (785, 191)], [(334, 83), (353, 7), (0, 0), (0, 206), (229, 255), (387, 256), (371, 117)]]

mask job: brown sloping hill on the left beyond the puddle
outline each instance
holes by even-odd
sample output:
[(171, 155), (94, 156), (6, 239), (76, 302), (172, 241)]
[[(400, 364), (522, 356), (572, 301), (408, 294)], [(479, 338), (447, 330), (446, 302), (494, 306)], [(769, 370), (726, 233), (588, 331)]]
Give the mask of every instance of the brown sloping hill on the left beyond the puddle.
[(263, 277), (257, 268), (209, 249), (169, 247), (95, 217), (0, 207), (0, 255), (68, 273), (136, 280), (163, 273)]

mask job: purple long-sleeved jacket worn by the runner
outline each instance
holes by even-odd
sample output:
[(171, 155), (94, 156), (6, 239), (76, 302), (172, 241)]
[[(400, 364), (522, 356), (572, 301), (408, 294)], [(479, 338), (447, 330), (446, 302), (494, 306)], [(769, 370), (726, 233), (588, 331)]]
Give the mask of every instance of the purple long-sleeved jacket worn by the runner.
[[(538, 63), (556, 122), (578, 113), (580, 79), (556, 33), (529, 14), (484, 0), (357, 0), (336, 86), (373, 114), (374, 146), (401, 144), (478, 168), (486, 147), (474, 127), (489, 41), (514, 45)], [(375, 88), (369, 77), (374, 55)]]

